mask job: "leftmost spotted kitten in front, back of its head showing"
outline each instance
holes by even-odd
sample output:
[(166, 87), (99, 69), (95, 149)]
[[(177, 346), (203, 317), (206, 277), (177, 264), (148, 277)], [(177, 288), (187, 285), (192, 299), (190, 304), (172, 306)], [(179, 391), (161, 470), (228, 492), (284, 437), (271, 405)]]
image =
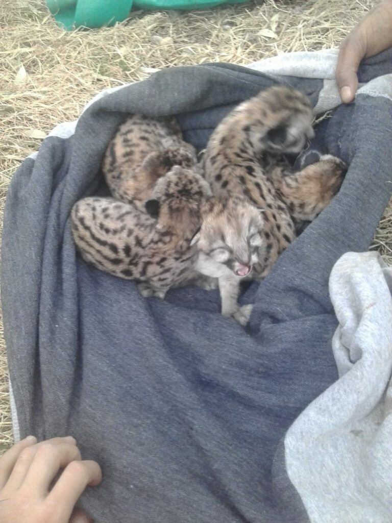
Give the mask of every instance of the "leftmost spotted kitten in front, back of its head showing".
[(71, 213), (76, 246), (98, 269), (136, 280), (143, 296), (164, 298), (171, 287), (200, 277), (191, 240), (210, 194), (194, 170), (175, 166), (156, 182), (147, 213), (113, 198), (85, 198)]

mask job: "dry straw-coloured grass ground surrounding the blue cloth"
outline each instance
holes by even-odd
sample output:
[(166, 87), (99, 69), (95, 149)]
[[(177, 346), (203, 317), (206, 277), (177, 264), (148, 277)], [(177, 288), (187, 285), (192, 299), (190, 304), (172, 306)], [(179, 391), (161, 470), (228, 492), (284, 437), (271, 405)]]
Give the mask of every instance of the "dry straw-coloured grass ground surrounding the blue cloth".
[[(284, 51), (338, 47), (375, 0), (265, 0), (193, 13), (134, 13), (99, 30), (59, 29), (44, 0), (0, 3), (0, 190), (58, 122), (75, 119), (105, 87), (161, 67), (247, 63)], [(376, 243), (391, 253), (392, 214)], [(0, 331), (3, 339), (3, 331)], [(0, 347), (0, 452), (12, 442), (4, 343)]]

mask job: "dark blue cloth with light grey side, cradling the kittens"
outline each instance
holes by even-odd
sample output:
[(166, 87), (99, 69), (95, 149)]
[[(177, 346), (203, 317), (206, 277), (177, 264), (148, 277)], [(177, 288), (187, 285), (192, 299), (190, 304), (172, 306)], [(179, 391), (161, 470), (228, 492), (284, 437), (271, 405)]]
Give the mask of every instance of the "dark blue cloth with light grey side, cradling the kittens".
[[(15, 433), (72, 434), (103, 465), (81, 499), (100, 523), (390, 522), (392, 275), (353, 252), (391, 191), (391, 59), (362, 65), (349, 106), (333, 52), (164, 70), (98, 96), (15, 174), (2, 267)], [(126, 115), (176, 115), (202, 150), (236, 104), (274, 84), (333, 109), (311, 150), (350, 167), (243, 295), (247, 331), (220, 315), (218, 291), (145, 299), (77, 257), (70, 211), (107, 194), (100, 164)]]

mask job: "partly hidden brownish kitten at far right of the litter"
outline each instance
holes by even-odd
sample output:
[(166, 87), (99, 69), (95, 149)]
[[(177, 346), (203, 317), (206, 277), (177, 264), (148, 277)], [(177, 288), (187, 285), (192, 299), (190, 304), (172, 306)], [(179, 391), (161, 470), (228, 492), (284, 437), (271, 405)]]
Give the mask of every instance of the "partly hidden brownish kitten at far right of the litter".
[(293, 218), (311, 221), (327, 207), (338, 192), (345, 164), (329, 154), (296, 174), (283, 175), (281, 168), (271, 173), (272, 183)]

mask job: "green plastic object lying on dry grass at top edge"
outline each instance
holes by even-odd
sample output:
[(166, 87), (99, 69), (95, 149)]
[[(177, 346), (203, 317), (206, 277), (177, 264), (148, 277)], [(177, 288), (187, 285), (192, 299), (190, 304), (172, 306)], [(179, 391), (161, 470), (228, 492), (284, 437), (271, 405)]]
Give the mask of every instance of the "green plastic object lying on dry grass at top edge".
[(60, 27), (113, 26), (125, 20), (132, 8), (206, 9), (222, 4), (243, 4), (249, 0), (47, 0), (48, 8)]

